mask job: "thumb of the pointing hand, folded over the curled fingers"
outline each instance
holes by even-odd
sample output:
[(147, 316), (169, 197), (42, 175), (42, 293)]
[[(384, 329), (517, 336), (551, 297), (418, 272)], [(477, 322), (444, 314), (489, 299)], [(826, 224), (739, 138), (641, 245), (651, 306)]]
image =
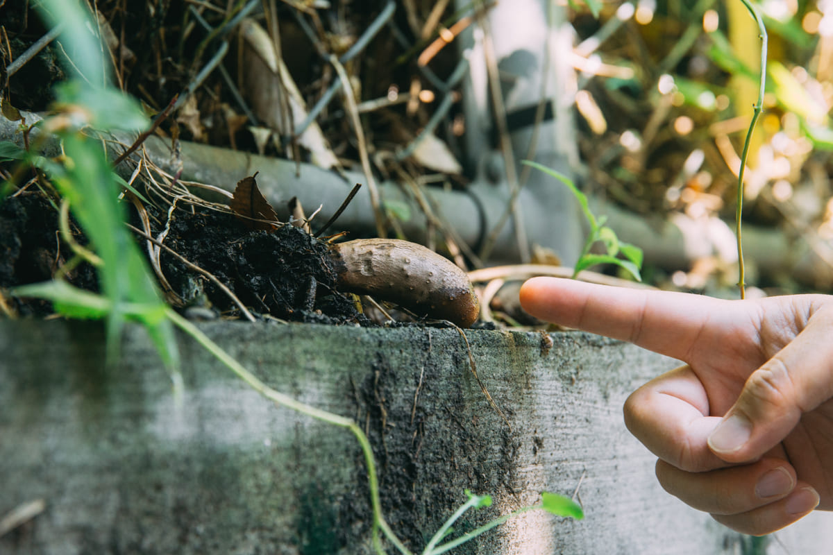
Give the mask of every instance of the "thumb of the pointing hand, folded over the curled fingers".
[(833, 314), (819, 316), (746, 379), (709, 436), (718, 457), (729, 463), (760, 458), (791, 433), (802, 414), (833, 397)]

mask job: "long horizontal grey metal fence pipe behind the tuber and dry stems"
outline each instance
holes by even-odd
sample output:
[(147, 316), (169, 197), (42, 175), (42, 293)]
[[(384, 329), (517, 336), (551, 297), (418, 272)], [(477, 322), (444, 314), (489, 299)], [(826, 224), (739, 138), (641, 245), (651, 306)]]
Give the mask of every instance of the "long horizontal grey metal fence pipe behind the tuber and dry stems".
[[(30, 125), (41, 119), (31, 112), (21, 113)], [(32, 127), (30, 139), (32, 144), (41, 145), (43, 156), (61, 154), (57, 137), (42, 136), (39, 127)], [(132, 137), (122, 136), (120, 140), (129, 144)], [(17, 146), (23, 146), (22, 131), (17, 121), (9, 121), (0, 116), (0, 141), (12, 141)], [(286, 201), (292, 196), (297, 196), (303, 206), (323, 204), (318, 217), (321, 221), (327, 221), (350, 192), (353, 183), (361, 182), (363, 178), (362, 174), (356, 172), (347, 172), (346, 176), (342, 177), (310, 164), (301, 164), (300, 171), (296, 173), (297, 166), (292, 161), (187, 141), (181, 142), (181, 156), (175, 159), (167, 143), (156, 136), (148, 138), (144, 150), (154, 163), (171, 173), (176, 173), (182, 164), (183, 180), (200, 181), (227, 191), (232, 191), (237, 181), (243, 177), (260, 171), (257, 176), (258, 186), (277, 209), (279, 216), (285, 220), (289, 216)], [(112, 158), (117, 154), (118, 152), (113, 152)], [(129, 176), (132, 165), (124, 163), (117, 169), (123, 176)], [(408, 206), (411, 216), (403, 222), (403, 230), (410, 239), (420, 241), (426, 229), (425, 217), (420, 208), (396, 183), (385, 181), (380, 189), (385, 200), (399, 201)], [(476, 245), (484, 225), (493, 225), (501, 215), (505, 201), (502, 196), (494, 194), (494, 188), (487, 183), (476, 183), (471, 189), (475, 192), (470, 194), (431, 189), (429, 194), (440, 209), (439, 216), (456, 230), (462, 240), (469, 245)], [(492, 191), (492, 194), (489, 191)], [(553, 239), (547, 235), (551, 230), (546, 220), (546, 216), (551, 216), (550, 208), (542, 205), (526, 188), (521, 191), (519, 200), (529, 216), (530, 236), (534, 240), (541, 240), (540, 244), (543, 246), (551, 245), (546, 242), (548, 238)], [(657, 265), (666, 270), (685, 270), (704, 255), (720, 254), (720, 245), (717, 245), (715, 240), (708, 239), (715, 234), (702, 225), (697, 225), (697, 222), (667, 221), (662, 225), (651, 225), (643, 217), (614, 206), (594, 204), (593, 210), (597, 214), (608, 216), (608, 223), (616, 229), (621, 240), (638, 245), (645, 251), (646, 264)], [(722, 225), (726, 230), (729, 229), (725, 223), (721, 224), (719, 221), (710, 221), (707, 225)], [(360, 192), (347, 207), (337, 221), (337, 228), (351, 230), (354, 235), (371, 235), (374, 232), (375, 224), (367, 191)], [(731, 234), (731, 230), (729, 233)], [(800, 237), (789, 240), (781, 230), (746, 225), (744, 240), (747, 255), (756, 263), (761, 275), (771, 278), (791, 275), (797, 282), (817, 289), (830, 288), (833, 285), (833, 268), (826, 264), (805, 239)], [(821, 246), (831, 248), (829, 242)], [(498, 240), (494, 255), (490, 262), (517, 261), (514, 238), (508, 230)]]

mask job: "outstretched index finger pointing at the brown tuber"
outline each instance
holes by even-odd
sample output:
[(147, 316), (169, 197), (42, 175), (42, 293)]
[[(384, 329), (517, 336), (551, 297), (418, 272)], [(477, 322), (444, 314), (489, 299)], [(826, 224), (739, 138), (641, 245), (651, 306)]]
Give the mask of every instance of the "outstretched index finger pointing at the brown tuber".
[(521, 306), (530, 315), (623, 339), (656, 353), (686, 358), (724, 300), (672, 291), (595, 285), (535, 277), (521, 286)]

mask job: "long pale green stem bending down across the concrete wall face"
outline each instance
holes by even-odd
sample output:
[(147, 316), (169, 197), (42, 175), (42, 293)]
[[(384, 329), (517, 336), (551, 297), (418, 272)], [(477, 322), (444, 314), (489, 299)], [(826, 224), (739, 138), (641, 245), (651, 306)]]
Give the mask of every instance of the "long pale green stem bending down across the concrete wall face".
[(343, 416), (339, 416), (338, 414), (329, 413), (326, 410), (316, 409), (311, 405), (302, 403), (297, 399), (293, 399), (287, 394), (282, 394), (279, 391), (270, 388), (260, 379), (257, 379), (257, 376), (245, 369), (242, 364), (237, 362), (237, 359), (234, 359), (232, 355), (228, 354), (218, 344), (209, 339), (206, 334), (203, 334), (197, 326), (193, 325), (185, 318), (182, 318), (182, 316), (178, 315), (177, 312), (171, 308), (167, 309), (166, 315), (174, 325), (177, 325), (177, 327), (179, 327), (182, 331), (196, 340), (197, 343), (201, 344), (203, 348), (213, 354), (215, 358), (222, 362), (222, 364), (225, 364), (228, 369), (231, 369), (234, 374), (237, 374), (237, 377), (249, 384), (252, 389), (257, 391), (257, 393), (262, 394), (264, 397), (276, 404), (281, 404), (287, 407), (287, 409), (295, 410), (301, 414), (307, 414), (307, 416), (312, 416), (312, 418), (322, 420), (328, 424), (349, 429), (353, 435), (356, 436), (356, 439), (362, 448), (362, 453), (364, 453), (365, 463), (367, 463), (367, 478), (370, 483), (370, 498), (373, 509), (373, 547), (376, 549), (377, 553), (385, 553), (382, 548), (382, 542), (379, 538), (379, 529), (382, 529), (382, 533), (385, 534), (387, 539), (400, 551), (400, 553), (402, 553), (402, 555), (413, 555), (411, 551), (409, 551), (408, 548), (402, 544), (399, 538), (397, 538), (396, 534), (393, 533), (391, 528), (387, 525), (387, 522), (385, 522), (385, 519), (382, 517), (382, 503), (379, 498), (379, 480), (376, 472), (376, 461), (373, 458), (373, 449), (371, 448), (370, 440), (367, 439), (367, 435), (362, 432), (362, 429), (359, 428), (358, 424), (356, 424), (353, 419), (347, 419)]

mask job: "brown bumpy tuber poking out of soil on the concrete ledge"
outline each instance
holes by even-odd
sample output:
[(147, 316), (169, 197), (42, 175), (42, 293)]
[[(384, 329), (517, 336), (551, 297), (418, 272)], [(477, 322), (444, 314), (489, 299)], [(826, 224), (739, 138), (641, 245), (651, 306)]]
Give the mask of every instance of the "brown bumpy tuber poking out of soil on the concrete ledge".
[(480, 314), (466, 272), (407, 240), (357, 239), (331, 245), (339, 289), (372, 295), (414, 314), (467, 328)]

